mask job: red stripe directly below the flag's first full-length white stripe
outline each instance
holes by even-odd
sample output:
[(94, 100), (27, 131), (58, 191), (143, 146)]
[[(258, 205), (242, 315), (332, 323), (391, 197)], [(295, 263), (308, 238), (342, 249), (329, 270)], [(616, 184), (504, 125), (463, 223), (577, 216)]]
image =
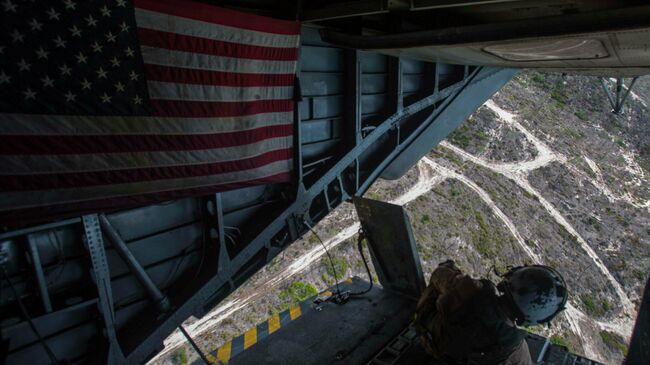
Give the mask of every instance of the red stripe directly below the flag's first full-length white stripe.
[(0, 154), (64, 155), (147, 151), (192, 151), (241, 146), (269, 138), (287, 137), (292, 133), (293, 125), (283, 124), (245, 131), (199, 135), (0, 135)]

